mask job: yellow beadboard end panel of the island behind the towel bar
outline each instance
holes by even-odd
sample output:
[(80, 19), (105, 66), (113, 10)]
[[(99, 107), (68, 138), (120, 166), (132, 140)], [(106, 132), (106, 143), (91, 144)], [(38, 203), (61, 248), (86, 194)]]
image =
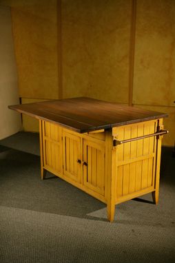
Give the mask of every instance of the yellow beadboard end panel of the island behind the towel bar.
[[(117, 140), (154, 134), (157, 120), (115, 127)], [(154, 188), (156, 136), (123, 143), (116, 147), (116, 201), (138, 191)]]

